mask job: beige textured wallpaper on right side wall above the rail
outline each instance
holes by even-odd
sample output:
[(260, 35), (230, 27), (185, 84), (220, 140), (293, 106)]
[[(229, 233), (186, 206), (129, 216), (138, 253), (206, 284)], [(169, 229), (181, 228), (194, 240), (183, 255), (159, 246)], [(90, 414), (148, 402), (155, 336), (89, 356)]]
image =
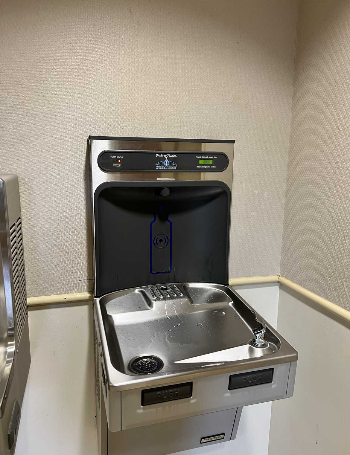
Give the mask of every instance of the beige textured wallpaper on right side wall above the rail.
[(350, 2), (299, 6), (281, 274), (350, 309)]

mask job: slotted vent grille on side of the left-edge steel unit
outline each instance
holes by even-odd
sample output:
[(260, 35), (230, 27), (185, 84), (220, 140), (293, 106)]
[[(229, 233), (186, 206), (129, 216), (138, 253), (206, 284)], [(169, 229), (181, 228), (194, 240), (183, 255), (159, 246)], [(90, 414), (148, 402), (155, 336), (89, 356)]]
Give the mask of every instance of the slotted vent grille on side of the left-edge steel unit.
[(25, 289), (22, 223), (20, 217), (10, 227), (10, 249), (15, 304), (17, 339), (20, 342), (23, 327), (28, 317), (27, 293)]

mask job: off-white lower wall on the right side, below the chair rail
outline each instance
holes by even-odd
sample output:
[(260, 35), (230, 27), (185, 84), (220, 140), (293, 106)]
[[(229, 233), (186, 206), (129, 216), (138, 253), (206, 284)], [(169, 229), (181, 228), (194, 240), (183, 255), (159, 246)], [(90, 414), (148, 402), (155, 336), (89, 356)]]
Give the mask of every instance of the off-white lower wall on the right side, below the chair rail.
[(298, 351), (294, 396), (272, 404), (269, 455), (349, 455), (350, 324), (280, 287), (277, 330)]

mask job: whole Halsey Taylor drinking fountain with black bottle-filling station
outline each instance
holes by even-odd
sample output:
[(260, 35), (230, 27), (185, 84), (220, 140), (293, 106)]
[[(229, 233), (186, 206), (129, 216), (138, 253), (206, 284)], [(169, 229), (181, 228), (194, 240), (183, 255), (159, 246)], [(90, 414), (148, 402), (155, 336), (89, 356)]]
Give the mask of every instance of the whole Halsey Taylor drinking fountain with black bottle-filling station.
[(228, 287), (234, 141), (89, 137), (101, 455), (233, 440), (297, 352)]

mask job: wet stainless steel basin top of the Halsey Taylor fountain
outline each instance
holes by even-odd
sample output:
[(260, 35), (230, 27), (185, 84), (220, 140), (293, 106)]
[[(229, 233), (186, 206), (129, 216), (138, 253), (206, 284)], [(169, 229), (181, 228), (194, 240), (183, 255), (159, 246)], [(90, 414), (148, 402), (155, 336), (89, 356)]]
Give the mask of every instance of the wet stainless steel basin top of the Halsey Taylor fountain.
[[(178, 283), (140, 287), (108, 294), (97, 302), (107, 357), (113, 369), (122, 373), (120, 383), (208, 374), (213, 369), (222, 373), (228, 367), (233, 371), (235, 366), (241, 370), (297, 359), (296, 351), (268, 324), (265, 347), (251, 344), (258, 324), (255, 313), (227, 286)], [(130, 363), (142, 356), (160, 358), (163, 368), (140, 377)]]

